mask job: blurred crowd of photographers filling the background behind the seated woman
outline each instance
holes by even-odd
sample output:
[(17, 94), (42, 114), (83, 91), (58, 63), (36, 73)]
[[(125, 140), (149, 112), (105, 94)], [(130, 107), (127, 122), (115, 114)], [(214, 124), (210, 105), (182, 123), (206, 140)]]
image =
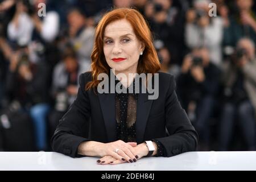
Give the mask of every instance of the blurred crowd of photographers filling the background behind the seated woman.
[(175, 76), (199, 133), (198, 150), (255, 150), (253, 0), (0, 0), (0, 151), (51, 151), (77, 78), (90, 70), (94, 28), (113, 7), (147, 19), (161, 71)]

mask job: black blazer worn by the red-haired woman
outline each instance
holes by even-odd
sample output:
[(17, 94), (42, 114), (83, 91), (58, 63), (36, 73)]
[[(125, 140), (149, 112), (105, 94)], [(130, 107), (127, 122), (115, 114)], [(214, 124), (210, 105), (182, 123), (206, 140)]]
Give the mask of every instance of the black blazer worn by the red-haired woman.
[[(117, 140), (115, 94), (85, 91), (86, 83), (91, 80), (91, 72), (80, 75), (77, 98), (60, 119), (51, 139), (53, 151), (77, 157), (81, 142)], [(158, 139), (168, 157), (195, 151), (198, 140), (195, 128), (177, 100), (175, 86), (174, 76), (159, 72), (158, 99), (148, 100), (148, 93), (139, 93), (137, 101), (137, 143)]]

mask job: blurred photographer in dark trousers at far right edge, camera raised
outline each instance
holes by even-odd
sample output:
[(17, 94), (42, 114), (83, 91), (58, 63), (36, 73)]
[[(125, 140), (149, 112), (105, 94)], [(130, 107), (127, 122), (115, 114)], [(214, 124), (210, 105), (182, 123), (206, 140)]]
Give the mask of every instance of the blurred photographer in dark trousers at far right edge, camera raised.
[[(242, 130), (247, 149), (255, 150), (256, 108), (255, 46), (242, 38), (236, 52), (223, 67), (224, 107), (220, 123), (220, 150), (228, 150), (236, 121)], [(237, 118), (237, 119), (236, 119)]]

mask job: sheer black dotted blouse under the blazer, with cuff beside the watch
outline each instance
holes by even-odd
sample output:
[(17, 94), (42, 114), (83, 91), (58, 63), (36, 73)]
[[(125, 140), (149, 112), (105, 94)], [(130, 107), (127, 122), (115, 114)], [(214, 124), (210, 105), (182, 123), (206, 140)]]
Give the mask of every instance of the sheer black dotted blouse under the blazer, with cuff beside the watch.
[[(115, 85), (119, 80), (115, 80)], [(120, 88), (122, 89), (122, 84)], [(136, 115), (138, 94), (135, 93), (135, 80), (133, 81), (133, 93), (115, 92), (115, 118), (117, 123), (117, 139), (124, 142), (136, 142)], [(158, 140), (153, 140), (158, 146), (157, 156), (165, 156), (165, 149)]]

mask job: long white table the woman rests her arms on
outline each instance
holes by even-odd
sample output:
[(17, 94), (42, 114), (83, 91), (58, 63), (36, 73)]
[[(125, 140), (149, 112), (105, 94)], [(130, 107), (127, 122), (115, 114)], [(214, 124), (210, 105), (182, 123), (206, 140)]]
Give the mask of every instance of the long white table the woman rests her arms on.
[(187, 152), (171, 158), (99, 165), (98, 158), (71, 158), (56, 152), (0, 152), (0, 170), (169, 171), (256, 170), (256, 151)]

